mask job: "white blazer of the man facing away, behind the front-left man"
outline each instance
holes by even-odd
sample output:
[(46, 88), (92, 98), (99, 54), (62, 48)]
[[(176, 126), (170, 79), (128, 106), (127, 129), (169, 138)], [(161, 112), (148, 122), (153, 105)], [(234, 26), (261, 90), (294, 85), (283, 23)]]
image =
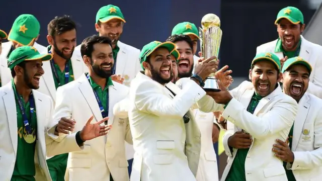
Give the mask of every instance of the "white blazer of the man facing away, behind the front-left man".
[[(6, 85), (8, 82), (10, 82), (12, 76), (11, 76), (11, 70), (8, 68), (8, 53), (10, 52), (12, 47), (12, 42), (8, 41), (2, 44), (2, 53), (0, 55), (0, 78), (1, 78), (1, 84), (2, 86)], [(37, 42), (34, 43), (34, 47), (39, 51), (45, 51), (46, 47), (38, 44)]]

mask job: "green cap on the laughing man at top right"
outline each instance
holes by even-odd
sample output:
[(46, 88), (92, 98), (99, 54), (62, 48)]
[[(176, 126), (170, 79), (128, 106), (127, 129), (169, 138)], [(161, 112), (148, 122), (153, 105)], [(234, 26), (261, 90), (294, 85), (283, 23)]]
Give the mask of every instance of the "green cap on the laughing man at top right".
[(283, 18), (287, 19), (293, 24), (304, 24), (304, 17), (302, 12), (295, 7), (286, 7), (279, 11), (277, 14), (275, 25), (277, 25), (278, 22)]

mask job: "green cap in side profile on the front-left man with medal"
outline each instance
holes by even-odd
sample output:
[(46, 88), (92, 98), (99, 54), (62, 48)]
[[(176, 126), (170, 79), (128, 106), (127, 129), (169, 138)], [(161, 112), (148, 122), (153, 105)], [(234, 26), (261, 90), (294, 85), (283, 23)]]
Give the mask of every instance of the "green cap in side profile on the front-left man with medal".
[(16, 65), (23, 61), (29, 60), (42, 60), (48, 61), (52, 59), (52, 54), (45, 53), (40, 54), (35, 47), (32, 46), (22, 46), (16, 48), (11, 52), (8, 58), (8, 67), (12, 70)]

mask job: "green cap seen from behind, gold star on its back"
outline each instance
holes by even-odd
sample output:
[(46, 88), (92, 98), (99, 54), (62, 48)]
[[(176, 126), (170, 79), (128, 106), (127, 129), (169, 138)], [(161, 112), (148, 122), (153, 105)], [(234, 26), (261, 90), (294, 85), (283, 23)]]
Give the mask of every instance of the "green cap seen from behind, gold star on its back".
[(12, 25), (8, 40), (28, 46), (39, 35), (40, 24), (33, 15), (20, 15)]

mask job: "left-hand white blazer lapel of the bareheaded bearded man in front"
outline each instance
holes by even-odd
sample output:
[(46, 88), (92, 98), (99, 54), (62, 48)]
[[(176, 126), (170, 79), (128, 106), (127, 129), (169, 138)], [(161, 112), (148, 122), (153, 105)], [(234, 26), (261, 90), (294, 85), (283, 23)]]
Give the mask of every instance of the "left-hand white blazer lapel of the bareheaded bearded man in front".
[(81, 93), (83, 94), (84, 98), (86, 99), (87, 104), (90, 106), (91, 111), (92, 111), (95, 119), (97, 121), (102, 120), (103, 117), (102, 117), (102, 114), (101, 114), (99, 104), (96, 101), (96, 98), (95, 98), (95, 95), (94, 95), (94, 92), (93, 92), (93, 88), (92, 88), (89, 80), (85, 76), (85, 74), (83, 74), (78, 79), (78, 82), (81, 83), (81, 84), (79, 84), (78, 88), (81, 91)]

